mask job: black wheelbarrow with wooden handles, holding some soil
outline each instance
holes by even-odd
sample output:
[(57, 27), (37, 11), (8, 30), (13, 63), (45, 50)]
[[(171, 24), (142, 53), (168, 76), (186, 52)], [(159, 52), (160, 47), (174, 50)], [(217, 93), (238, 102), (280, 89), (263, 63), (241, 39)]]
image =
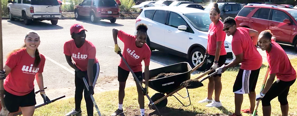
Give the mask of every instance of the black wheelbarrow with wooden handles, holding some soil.
[[(189, 80), (191, 77), (191, 73), (197, 70), (202, 65), (203, 65), (203, 62), (201, 62), (199, 65), (197, 65), (195, 68), (192, 69), (188, 62), (180, 62), (173, 65), (168, 65), (165, 67), (150, 70), (149, 71), (150, 79), (159, 75), (160, 73), (173, 72), (173, 73), (180, 73), (180, 74), (171, 75), (168, 77), (158, 78), (154, 80), (149, 80), (149, 87), (159, 92), (154, 94), (151, 97), (153, 103), (151, 102), (149, 103), (149, 108), (154, 109), (153, 107), (151, 107), (152, 104), (155, 104), (158, 108), (165, 107), (167, 105), (167, 98), (169, 96), (174, 96), (178, 100), (178, 102), (180, 102), (184, 107), (191, 105), (191, 99), (189, 96), (188, 88), (186, 88), (187, 96), (185, 97), (181, 96), (181, 94), (178, 94), (177, 92), (185, 88), (184, 86), (181, 86), (181, 83), (183, 83), (186, 80)], [(211, 71), (213, 70), (208, 70), (195, 79), (198, 80), (199, 78), (202, 78), (203, 76), (207, 75)], [(200, 82), (198, 81), (198, 87), (203, 86), (203, 84), (201, 83), (203, 80), (206, 80), (207, 78), (215, 75), (216, 73), (217, 72), (214, 72), (211, 75), (208, 75), (206, 78), (203, 78)], [(175, 93), (177, 93), (179, 96), (181, 96), (184, 99), (189, 98), (189, 104), (185, 105), (184, 103), (182, 103), (175, 95), (173, 95)]]

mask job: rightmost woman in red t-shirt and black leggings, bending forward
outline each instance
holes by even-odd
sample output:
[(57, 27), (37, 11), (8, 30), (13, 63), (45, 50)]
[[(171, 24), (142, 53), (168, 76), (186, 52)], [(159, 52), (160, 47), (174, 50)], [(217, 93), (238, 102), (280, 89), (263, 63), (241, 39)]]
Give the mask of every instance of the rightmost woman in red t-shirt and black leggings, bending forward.
[[(263, 116), (270, 116), (270, 101), (278, 96), (282, 115), (287, 116), (289, 111), (287, 96), (290, 86), (296, 80), (296, 71), (284, 49), (275, 42), (275, 38), (272, 36), (270, 30), (264, 30), (258, 38), (259, 46), (267, 53), (270, 76), (262, 93), (256, 96), (256, 100), (262, 99)], [(274, 82), (275, 76), (277, 80)]]

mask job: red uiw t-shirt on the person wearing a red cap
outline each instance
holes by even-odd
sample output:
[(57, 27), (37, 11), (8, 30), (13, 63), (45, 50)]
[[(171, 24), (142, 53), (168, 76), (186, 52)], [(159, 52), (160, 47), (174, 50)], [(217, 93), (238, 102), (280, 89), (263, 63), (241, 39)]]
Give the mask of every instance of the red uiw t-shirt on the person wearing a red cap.
[(96, 58), (96, 48), (90, 41), (85, 41), (83, 46), (77, 48), (74, 40), (69, 40), (64, 43), (64, 54), (71, 56), (76, 67), (81, 71), (86, 71), (88, 68), (89, 59), (95, 59), (94, 63), (98, 62)]

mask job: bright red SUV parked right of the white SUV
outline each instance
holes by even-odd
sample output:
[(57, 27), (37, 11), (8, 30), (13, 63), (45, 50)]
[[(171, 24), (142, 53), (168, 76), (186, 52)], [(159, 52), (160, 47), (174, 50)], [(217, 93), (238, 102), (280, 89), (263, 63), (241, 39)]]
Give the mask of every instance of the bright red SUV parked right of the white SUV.
[(268, 4), (247, 4), (235, 17), (237, 27), (271, 30), (278, 43), (290, 44), (297, 51), (297, 9)]

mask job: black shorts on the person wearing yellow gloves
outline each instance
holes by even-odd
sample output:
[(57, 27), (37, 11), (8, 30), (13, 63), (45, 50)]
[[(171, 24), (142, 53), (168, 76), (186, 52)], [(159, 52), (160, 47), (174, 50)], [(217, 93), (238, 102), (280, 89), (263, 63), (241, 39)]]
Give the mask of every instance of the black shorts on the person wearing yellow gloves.
[[(130, 71), (124, 70), (118, 66), (118, 80), (119, 82), (126, 82)], [(142, 72), (134, 72), (140, 82), (142, 82)]]

